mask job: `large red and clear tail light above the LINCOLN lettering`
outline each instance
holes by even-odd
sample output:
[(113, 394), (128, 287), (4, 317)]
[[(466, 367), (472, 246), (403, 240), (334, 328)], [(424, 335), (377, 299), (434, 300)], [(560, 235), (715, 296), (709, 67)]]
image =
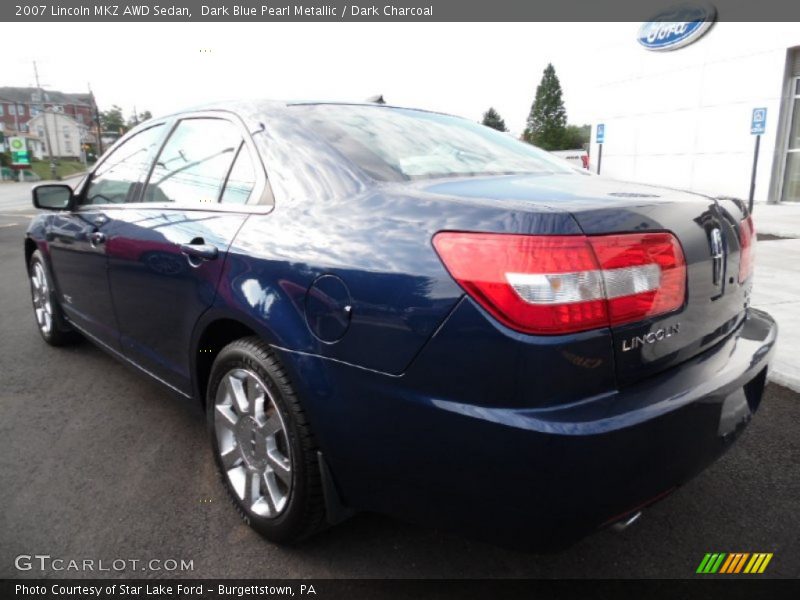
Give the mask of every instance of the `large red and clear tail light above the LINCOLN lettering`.
[(436, 252), (464, 290), (504, 325), (555, 335), (671, 312), (686, 262), (670, 233), (530, 236), (440, 232)]

